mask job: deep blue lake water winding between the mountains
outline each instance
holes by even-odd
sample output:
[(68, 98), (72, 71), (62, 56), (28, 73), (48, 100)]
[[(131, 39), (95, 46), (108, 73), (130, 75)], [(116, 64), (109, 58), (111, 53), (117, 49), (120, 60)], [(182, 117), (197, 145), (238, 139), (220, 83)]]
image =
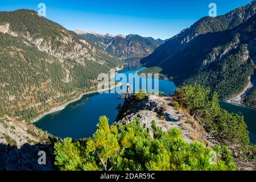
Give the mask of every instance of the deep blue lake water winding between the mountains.
[[(144, 68), (135, 69), (134, 71), (124, 70), (121, 73), (128, 75), (142, 69)], [(142, 82), (147, 78), (140, 79)], [(141, 88), (141, 84), (139, 87)], [(159, 80), (159, 91), (169, 94), (174, 93), (175, 89), (174, 82)], [(136, 90), (133, 85), (133, 92)], [(81, 100), (69, 104), (65, 109), (46, 115), (35, 125), (56, 137), (71, 137), (73, 139), (91, 137), (97, 129), (98, 118), (101, 115), (106, 115), (109, 118), (109, 123), (113, 123), (118, 114), (115, 108), (122, 103), (123, 99), (118, 97), (117, 93), (88, 94), (82, 97)], [(256, 143), (256, 109), (231, 105), (225, 102), (220, 104), (223, 109), (228, 110), (230, 113), (244, 115), (249, 130), (250, 142)]]

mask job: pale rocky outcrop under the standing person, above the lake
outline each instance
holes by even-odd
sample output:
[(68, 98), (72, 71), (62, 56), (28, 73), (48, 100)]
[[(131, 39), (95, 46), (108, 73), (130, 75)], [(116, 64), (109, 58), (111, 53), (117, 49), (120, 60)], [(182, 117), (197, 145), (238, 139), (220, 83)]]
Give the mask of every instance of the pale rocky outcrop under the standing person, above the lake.
[(139, 118), (141, 125), (149, 129), (153, 137), (151, 123), (154, 120), (156, 126), (162, 127), (163, 131), (168, 131), (172, 127), (181, 129), (183, 138), (188, 142), (199, 140), (207, 144), (204, 128), (199, 125), (189, 114), (184, 114), (172, 106), (172, 97), (150, 95), (143, 100), (131, 97), (129, 102), (121, 107), (114, 125), (119, 123), (126, 125)]

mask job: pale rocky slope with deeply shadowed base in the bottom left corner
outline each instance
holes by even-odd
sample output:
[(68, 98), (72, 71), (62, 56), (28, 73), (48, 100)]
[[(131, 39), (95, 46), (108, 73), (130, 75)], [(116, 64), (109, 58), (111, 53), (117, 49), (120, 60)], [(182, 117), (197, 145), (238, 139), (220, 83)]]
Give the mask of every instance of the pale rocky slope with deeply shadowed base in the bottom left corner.
[[(0, 171), (53, 171), (53, 144), (57, 139), (31, 123), (0, 117)], [(46, 154), (46, 164), (40, 165), (39, 152)]]

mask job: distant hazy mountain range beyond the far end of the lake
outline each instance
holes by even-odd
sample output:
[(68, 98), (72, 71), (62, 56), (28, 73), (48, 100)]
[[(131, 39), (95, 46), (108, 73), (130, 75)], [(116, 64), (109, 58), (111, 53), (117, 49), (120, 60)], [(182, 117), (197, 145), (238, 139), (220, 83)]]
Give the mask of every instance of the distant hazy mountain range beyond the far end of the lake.
[(150, 55), (165, 40), (145, 38), (140, 35), (112, 35), (98, 34), (95, 32), (86, 32), (82, 30), (74, 30), (76, 34), (82, 38), (96, 44), (111, 55), (125, 59), (128, 57), (145, 57)]

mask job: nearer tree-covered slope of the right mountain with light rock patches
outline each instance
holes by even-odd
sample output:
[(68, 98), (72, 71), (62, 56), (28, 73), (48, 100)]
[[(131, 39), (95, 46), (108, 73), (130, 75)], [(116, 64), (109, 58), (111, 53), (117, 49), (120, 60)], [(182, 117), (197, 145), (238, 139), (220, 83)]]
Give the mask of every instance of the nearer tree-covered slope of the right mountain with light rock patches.
[[(184, 83), (200, 83), (210, 86), (228, 99), (242, 92), (255, 70), (256, 14), (240, 26), (228, 31), (227, 42), (209, 49), (204, 61), (209, 61), (200, 71), (196, 71)], [(219, 38), (225, 40), (220, 34)], [(205, 64), (203, 61), (203, 64)]]

